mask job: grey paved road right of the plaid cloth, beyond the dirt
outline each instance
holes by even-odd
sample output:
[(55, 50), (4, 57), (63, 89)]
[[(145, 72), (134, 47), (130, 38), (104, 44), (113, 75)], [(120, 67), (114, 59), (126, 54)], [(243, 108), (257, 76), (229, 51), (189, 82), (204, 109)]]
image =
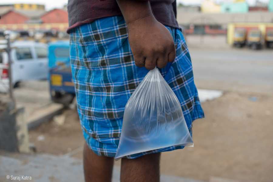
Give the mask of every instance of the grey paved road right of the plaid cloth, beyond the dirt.
[(198, 88), (273, 93), (273, 50), (190, 48)]

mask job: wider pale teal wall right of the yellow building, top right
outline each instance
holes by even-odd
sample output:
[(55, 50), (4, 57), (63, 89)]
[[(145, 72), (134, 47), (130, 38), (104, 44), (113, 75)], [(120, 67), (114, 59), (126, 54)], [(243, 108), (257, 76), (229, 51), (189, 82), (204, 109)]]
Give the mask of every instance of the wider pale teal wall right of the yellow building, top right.
[(246, 2), (226, 2), (221, 5), (221, 12), (223, 13), (247, 13), (248, 3)]

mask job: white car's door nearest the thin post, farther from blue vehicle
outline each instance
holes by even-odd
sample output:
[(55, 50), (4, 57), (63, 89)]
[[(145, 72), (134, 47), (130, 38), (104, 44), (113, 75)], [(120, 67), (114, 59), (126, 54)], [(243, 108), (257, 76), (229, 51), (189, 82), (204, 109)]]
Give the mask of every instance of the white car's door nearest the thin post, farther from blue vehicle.
[(12, 51), (14, 58), (12, 64), (12, 72), (14, 80), (26, 81), (34, 78), (35, 62), (33, 49), (31, 46), (15, 47)]

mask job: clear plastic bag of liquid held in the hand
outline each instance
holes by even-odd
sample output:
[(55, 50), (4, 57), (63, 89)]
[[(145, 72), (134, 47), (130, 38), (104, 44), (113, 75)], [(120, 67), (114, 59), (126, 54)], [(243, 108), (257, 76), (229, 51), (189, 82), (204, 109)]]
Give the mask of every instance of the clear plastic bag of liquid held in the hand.
[(157, 68), (150, 70), (129, 98), (115, 159), (193, 140), (180, 103)]

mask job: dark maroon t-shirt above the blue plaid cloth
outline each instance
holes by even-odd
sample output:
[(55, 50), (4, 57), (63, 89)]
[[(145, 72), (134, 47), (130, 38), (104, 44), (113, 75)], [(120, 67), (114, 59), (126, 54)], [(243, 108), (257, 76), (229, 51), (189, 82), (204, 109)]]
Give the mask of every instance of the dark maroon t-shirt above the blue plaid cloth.
[[(150, 3), (157, 21), (179, 28), (176, 21), (176, 0), (150, 0)], [(115, 15), (122, 15), (116, 0), (69, 0), (67, 32), (79, 25)]]

